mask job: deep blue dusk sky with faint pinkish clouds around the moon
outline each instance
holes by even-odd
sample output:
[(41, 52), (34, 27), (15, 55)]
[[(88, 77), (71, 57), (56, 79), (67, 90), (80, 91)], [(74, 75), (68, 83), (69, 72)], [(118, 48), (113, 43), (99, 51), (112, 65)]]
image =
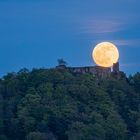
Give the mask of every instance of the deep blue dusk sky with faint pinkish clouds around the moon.
[(140, 71), (139, 0), (0, 0), (0, 75), (23, 67), (95, 65), (101, 41), (120, 51), (121, 70)]

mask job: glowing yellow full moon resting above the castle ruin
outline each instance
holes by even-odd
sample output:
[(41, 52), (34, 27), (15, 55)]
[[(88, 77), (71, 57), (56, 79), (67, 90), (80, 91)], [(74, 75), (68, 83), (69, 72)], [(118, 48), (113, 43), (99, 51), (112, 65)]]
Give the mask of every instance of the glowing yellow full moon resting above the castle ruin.
[(95, 46), (92, 57), (97, 65), (101, 67), (112, 67), (119, 59), (119, 51), (114, 44), (102, 42)]

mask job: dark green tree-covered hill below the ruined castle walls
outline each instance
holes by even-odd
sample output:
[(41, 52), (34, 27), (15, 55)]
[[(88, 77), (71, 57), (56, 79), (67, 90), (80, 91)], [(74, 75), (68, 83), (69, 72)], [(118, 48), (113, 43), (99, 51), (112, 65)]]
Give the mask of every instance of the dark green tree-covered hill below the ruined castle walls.
[(140, 140), (140, 73), (119, 80), (57, 69), (7, 74), (0, 140)]

